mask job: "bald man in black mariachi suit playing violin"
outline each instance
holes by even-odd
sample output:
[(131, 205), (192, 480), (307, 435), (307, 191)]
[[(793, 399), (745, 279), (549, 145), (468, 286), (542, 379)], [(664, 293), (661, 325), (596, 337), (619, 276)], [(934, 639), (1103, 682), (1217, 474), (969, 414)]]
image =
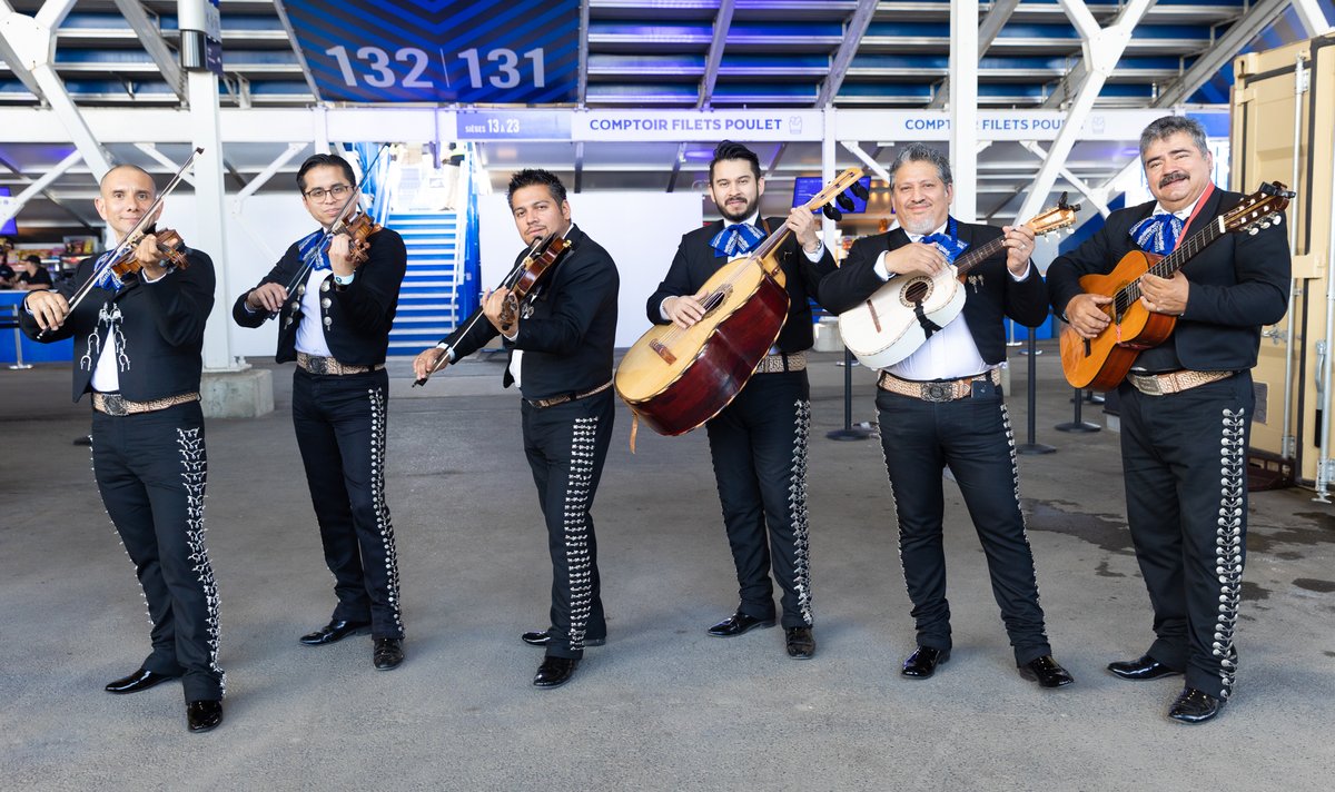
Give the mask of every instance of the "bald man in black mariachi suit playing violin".
[[(158, 211), (156, 192), (146, 171), (119, 166), (103, 176), (93, 206), (119, 242)], [(105, 689), (138, 693), (180, 678), (187, 728), (204, 732), (223, 720), (199, 405), (214, 263), (186, 248), (186, 266), (172, 266), (154, 234), (127, 246), (115, 268), (107, 258), (89, 256), (55, 290), (28, 294), (20, 322), (35, 341), (73, 338), (73, 401), (92, 394), (93, 477), (148, 602), (152, 650)], [(72, 309), (72, 295), (89, 280)]]

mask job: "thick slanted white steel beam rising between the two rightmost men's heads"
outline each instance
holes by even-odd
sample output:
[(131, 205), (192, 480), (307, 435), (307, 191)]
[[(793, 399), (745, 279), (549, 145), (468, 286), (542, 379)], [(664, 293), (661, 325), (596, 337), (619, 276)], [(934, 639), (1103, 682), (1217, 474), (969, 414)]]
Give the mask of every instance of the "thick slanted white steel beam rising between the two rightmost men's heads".
[[(1080, 0), (1061, 0), (1061, 5), (1067, 8), (1067, 13), (1075, 15), (1072, 16), (1072, 23), (1076, 27), (1087, 24), (1087, 21), (1076, 21), (1076, 17), (1093, 19), (1093, 15), (1089, 13), (1089, 9)], [(1085, 80), (1080, 85), (1071, 110), (1067, 112), (1061, 131), (1057, 132), (1056, 139), (1048, 148), (1048, 158), (1043, 160), (1039, 174), (1029, 183), (1024, 203), (1020, 206), (1020, 211), (1016, 212), (1015, 223), (1027, 220), (1048, 203), (1048, 194), (1052, 192), (1052, 186), (1057, 180), (1057, 172), (1065, 167), (1067, 156), (1071, 155), (1071, 148), (1080, 136), (1085, 119), (1089, 118), (1095, 99), (1099, 97), (1104, 83), (1108, 81), (1108, 76), (1116, 68), (1117, 60), (1121, 59), (1121, 53), (1131, 41), (1132, 29), (1151, 5), (1153, 5), (1153, 0), (1129, 0), (1123, 7), (1121, 13), (1117, 15), (1116, 21), (1107, 28), (1096, 29), (1095, 35), (1083, 43)]]

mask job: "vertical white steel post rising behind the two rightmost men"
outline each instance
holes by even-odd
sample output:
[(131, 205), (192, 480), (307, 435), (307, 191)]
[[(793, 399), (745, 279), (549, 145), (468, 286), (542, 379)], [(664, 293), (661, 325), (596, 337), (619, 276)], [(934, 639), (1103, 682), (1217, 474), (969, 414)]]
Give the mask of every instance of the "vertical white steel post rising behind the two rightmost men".
[(951, 170), (952, 214), (979, 215), (979, 0), (951, 0)]

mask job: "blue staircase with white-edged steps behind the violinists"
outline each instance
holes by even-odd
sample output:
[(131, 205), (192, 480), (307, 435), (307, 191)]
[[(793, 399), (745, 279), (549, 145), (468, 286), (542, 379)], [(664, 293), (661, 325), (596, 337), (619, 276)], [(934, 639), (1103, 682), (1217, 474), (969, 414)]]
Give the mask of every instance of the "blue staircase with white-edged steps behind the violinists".
[(463, 216), (458, 212), (394, 212), (386, 226), (403, 238), (409, 270), (390, 330), (390, 355), (415, 355), (435, 346), (462, 317)]

